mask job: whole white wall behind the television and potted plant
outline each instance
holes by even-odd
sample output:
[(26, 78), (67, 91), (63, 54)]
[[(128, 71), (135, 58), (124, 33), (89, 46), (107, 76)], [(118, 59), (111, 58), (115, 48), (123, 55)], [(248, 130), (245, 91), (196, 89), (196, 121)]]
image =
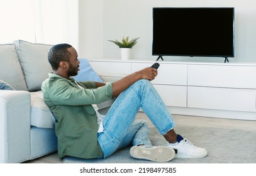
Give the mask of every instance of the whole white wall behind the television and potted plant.
[[(84, 1), (84, 0), (80, 0)], [(119, 48), (108, 40), (140, 37), (131, 50), (133, 58), (152, 56), (153, 7), (234, 7), (235, 58), (230, 61), (256, 62), (256, 3), (253, 0), (85, 0), (79, 11), (80, 56), (119, 58)], [(84, 52), (82, 52), (84, 50)], [(164, 57), (169, 60), (174, 57)], [(182, 57), (184, 58), (184, 57)], [(189, 58), (190, 59), (190, 58)]]

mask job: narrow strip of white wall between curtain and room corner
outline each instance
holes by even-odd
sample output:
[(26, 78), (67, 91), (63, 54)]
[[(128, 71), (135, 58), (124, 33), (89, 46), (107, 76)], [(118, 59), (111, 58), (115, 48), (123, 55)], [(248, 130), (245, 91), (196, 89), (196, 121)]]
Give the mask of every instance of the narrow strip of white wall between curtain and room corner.
[(79, 0), (79, 57), (103, 57), (103, 0)]

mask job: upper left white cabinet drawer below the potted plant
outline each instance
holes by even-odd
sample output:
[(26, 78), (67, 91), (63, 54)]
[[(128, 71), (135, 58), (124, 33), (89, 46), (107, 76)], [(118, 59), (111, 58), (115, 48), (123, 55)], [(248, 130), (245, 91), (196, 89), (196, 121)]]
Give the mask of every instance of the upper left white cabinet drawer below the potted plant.
[(131, 63), (90, 61), (92, 69), (101, 76), (123, 77), (131, 74)]

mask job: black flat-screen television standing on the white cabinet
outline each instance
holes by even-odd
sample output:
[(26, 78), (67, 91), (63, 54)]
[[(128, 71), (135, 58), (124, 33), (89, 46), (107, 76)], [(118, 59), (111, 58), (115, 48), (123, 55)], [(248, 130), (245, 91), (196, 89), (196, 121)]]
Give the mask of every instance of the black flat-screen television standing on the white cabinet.
[(153, 8), (152, 55), (234, 57), (234, 8)]

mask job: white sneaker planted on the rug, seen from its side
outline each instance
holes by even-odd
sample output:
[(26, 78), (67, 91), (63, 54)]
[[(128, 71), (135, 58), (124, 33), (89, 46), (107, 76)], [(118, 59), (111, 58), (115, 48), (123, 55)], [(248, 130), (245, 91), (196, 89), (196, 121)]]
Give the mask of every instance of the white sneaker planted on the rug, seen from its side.
[(207, 155), (207, 150), (200, 148), (184, 138), (177, 145), (169, 145), (176, 152), (175, 158), (203, 158)]

